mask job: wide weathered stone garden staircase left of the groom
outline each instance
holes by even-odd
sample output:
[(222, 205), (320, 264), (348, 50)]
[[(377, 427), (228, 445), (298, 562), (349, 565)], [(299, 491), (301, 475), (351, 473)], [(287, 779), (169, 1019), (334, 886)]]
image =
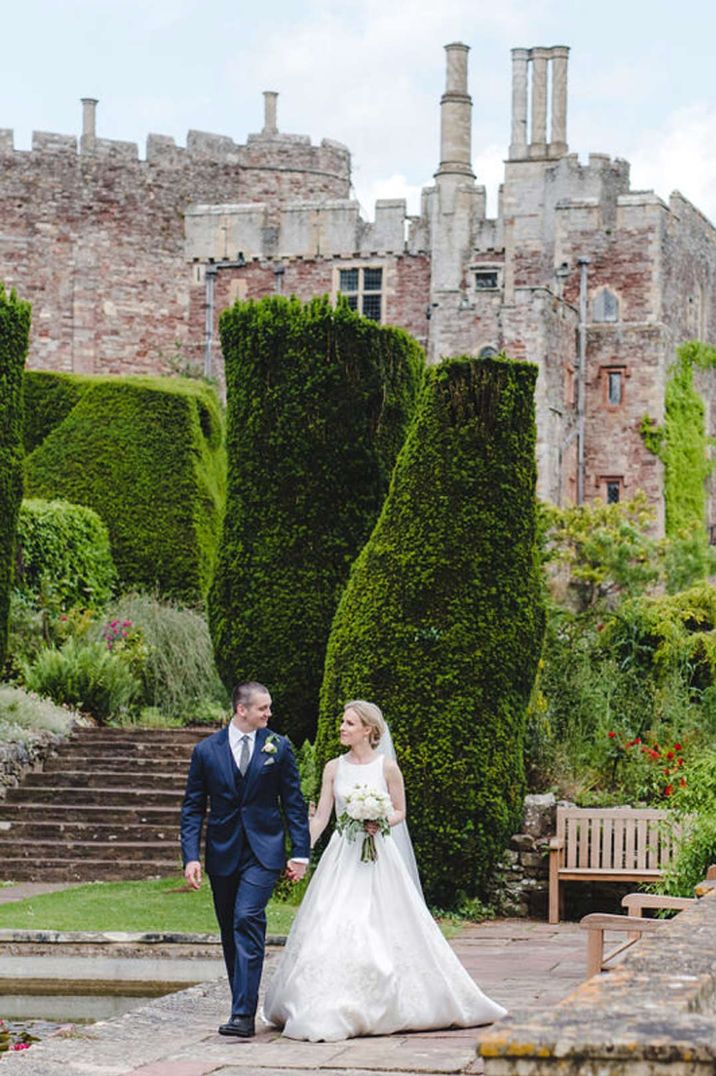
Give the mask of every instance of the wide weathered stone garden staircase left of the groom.
[(83, 728), (0, 801), (0, 880), (99, 881), (181, 869), (179, 812), (211, 730)]

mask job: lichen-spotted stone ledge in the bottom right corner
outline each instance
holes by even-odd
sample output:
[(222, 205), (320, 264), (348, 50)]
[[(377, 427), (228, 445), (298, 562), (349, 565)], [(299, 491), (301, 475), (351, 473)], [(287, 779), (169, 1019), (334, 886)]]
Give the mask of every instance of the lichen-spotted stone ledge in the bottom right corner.
[(716, 891), (550, 1010), (507, 1018), (478, 1050), (486, 1076), (712, 1074)]

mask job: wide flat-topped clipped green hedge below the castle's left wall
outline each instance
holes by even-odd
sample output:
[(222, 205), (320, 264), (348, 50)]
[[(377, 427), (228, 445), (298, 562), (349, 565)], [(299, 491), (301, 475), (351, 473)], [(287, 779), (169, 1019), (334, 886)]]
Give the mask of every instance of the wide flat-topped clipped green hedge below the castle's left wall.
[(26, 489), (93, 508), (124, 586), (200, 599), (224, 499), (223, 420), (214, 393), (168, 378), (32, 374)]

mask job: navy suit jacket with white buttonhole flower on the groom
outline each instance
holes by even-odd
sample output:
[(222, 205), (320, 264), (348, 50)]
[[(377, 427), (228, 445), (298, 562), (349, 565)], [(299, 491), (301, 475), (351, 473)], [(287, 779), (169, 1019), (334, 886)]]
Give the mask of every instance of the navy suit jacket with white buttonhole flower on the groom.
[[(273, 752), (264, 750), (267, 738), (276, 747)], [(285, 863), (283, 817), (291, 838), (291, 854), (309, 858), (308, 811), (300, 793), (296, 760), (285, 736), (258, 728), (243, 777), (231, 754), (228, 727), (196, 745), (182, 805), (184, 865), (200, 859), (207, 804), (208, 874), (234, 874), (247, 841), (262, 866), (280, 870)]]

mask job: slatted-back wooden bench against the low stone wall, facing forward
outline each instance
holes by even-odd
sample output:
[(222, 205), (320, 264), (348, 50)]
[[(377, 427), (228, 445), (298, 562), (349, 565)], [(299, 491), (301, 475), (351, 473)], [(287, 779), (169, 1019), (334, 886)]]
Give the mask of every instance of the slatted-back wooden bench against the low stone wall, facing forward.
[(558, 807), (557, 836), (549, 843), (549, 922), (561, 919), (564, 881), (657, 881), (680, 834), (666, 810)]

